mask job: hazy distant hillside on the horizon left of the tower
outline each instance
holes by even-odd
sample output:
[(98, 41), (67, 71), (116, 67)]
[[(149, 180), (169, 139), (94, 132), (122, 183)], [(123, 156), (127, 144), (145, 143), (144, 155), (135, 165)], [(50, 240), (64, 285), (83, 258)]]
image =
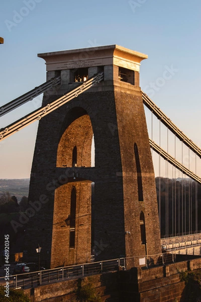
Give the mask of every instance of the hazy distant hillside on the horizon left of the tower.
[(11, 196), (15, 195), (18, 198), (18, 202), (20, 202), (23, 196), (28, 197), (29, 181), (29, 178), (0, 179), (0, 195), (9, 192)]

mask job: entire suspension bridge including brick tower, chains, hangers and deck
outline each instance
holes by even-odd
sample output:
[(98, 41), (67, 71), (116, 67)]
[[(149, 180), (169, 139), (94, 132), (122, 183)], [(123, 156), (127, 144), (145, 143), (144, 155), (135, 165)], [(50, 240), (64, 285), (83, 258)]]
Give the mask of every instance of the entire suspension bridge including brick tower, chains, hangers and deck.
[(40, 94), (42, 106), (1, 128), (0, 141), (39, 121), (24, 242), (29, 260), (35, 239), (43, 243), (51, 270), (11, 276), (13, 287), (120, 267), (125, 283), (135, 267), (134, 296), (155, 301), (160, 288), (181, 297), (178, 269), (197, 269), (201, 254), (201, 149), (141, 91), (147, 55), (109, 45), (39, 57), (47, 82), (2, 106), (0, 117)]

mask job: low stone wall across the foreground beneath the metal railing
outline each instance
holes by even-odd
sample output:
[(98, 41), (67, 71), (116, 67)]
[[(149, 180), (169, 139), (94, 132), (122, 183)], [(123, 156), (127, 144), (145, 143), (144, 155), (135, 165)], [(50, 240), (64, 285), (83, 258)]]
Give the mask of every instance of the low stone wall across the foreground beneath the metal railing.
[[(81, 279), (65, 280), (25, 290), (31, 301), (65, 302), (73, 301), (78, 284), (92, 284), (102, 301), (111, 302), (182, 302), (186, 297), (185, 282), (180, 281), (180, 271), (187, 267), (197, 269), (201, 258), (183, 261), (165, 267), (149, 269), (132, 268), (128, 271), (118, 271), (83, 277)], [(168, 274), (167, 274), (168, 272)]]

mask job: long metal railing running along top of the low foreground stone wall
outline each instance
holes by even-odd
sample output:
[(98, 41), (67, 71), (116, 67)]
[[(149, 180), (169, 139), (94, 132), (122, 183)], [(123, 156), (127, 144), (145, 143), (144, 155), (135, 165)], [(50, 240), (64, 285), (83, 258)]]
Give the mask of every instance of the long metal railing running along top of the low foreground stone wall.
[[(89, 275), (102, 274), (106, 272), (115, 272), (120, 269), (126, 270), (127, 267), (144, 266), (147, 268), (153, 266), (162, 266), (174, 263), (176, 253), (161, 253), (148, 256), (137, 256), (118, 258), (112, 260), (84, 263), (71, 265), (47, 270), (41, 270), (31, 273), (23, 273), (9, 276), (10, 287), (13, 288), (30, 288), (58, 281), (76, 279)], [(5, 285), (5, 277), (0, 277), (0, 285)]]

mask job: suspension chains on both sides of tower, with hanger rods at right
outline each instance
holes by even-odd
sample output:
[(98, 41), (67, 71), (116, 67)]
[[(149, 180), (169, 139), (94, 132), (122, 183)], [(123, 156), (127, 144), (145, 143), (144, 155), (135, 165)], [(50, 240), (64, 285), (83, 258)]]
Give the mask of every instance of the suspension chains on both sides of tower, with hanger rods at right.
[[(79, 94), (84, 93), (90, 87), (98, 85), (103, 80), (104, 73), (102, 72), (81, 83), (76, 89), (73, 89), (61, 98), (7, 125), (0, 130), (0, 140), (4, 140), (34, 121), (40, 120), (66, 102), (76, 98)], [(0, 116), (10, 113), (19, 106), (32, 101), (38, 95), (48, 91), (48, 89), (52, 89), (60, 84), (60, 77), (52, 78), (39, 87), (2, 106), (0, 108)], [(176, 243), (180, 243), (180, 249), (182, 247), (183, 249), (186, 248), (186, 242), (190, 242), (190, 246), (194, 244), (199, 245), (201, 239), (199, 229), (201, 225), (198, 223), (198, 189), (200, 190), (201, 178), (197, 175), (197, 167), (200, 166), (201, 149), (144, 92), (142, 92), (142, 97), (145, 110), (148, 109), (146, 111), (147, 123), (150, 118), (149, 115), (151, 115), (151, 122), (148, 127), (149, 141), (152, 155), (155, 153), (153, 155), (154, 164), (156, 169), (158, 169), (156, 188), (161, 238), (163, 238), (161, 244), (169, 249), (178, 248)], [(154, 122), (156, 123), (154, 118), (158, 121), (158, 130), (155, 131), (156, 133), (153, 132), (153, 124)], [(164, 126), (162, 130), (161, 125)], [(170, 134), (172, 134), (172, 137)], [(158, 143), (155, 141), (158, 141)], [(158, 155), (157, 159), (156, 155)], [(186, 157), (188, 158), (187, 165), (183, 163), (184, 157), (185, 163)], [(180, 161), (178, 158), (180, 158)], [(194, 166), (192, 167), (193, 169), (190, 169), (192, 158), (194, 159)], [(187, 238), (187, 236), (195, 236), (195, 234), (196, 240)], [(171, 239), (172, 237), (174, 238), (174, 243)], [(172, 243), (170, 243), (171, 241)]]

